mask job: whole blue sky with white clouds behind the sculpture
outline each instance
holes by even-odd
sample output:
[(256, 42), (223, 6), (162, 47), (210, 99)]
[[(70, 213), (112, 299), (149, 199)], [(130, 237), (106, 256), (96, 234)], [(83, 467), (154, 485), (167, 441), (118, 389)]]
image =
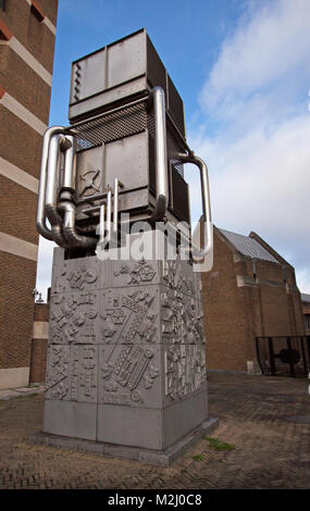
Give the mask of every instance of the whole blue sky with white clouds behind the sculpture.
[[(145, 27), (209, 167), (213, 223), (258, 233), (310, 294), (310, 1), (60, 0), (50, 125), (67, 125), (72, 61)], [(186, 165), (191, 219), (199, 174)], [(37, 289), (53, 244), (40, 240)]]

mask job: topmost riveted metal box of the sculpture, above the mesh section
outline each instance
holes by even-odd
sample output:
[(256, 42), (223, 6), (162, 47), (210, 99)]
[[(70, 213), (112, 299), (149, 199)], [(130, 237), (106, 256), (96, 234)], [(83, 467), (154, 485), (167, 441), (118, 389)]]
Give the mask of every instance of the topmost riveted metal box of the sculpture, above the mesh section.
[(128, 101), (152, 87), (165, 92), (166, 109), (185, 136), (184, 105), (145, 29), (72, 64), (69, 119), (76, 122), (112, 103)]

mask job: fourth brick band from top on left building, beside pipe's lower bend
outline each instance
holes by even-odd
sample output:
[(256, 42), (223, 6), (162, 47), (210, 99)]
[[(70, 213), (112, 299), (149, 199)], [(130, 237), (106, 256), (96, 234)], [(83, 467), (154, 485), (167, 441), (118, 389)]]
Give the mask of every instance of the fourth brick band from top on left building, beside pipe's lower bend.
[(0, 232), (37, 245), (37, 194), (0, 175)]

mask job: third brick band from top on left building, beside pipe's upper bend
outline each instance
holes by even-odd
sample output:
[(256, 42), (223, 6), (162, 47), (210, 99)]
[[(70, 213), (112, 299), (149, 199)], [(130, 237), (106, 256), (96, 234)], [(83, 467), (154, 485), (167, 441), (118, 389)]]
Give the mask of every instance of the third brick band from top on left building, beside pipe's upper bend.
[(0, 154), (39, 177), (42, 136), (0, 104)]

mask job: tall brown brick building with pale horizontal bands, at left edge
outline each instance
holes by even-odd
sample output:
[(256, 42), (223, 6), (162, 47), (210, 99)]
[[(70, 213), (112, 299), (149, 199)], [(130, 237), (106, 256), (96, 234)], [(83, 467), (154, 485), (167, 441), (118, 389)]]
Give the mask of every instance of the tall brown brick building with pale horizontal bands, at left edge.
[(0, 388), (27, 385), (58, 0), (0, 0)]

